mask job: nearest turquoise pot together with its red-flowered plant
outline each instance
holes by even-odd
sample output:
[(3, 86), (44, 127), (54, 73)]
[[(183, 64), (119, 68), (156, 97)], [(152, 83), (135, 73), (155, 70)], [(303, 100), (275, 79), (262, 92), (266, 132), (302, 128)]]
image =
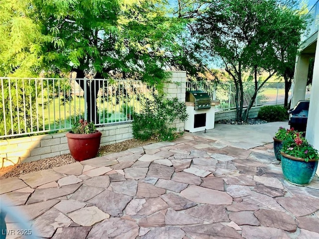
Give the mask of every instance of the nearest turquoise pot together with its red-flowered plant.
[(318, 166), (318, 150), (300, 132), (283, 142), (281, 154), (282, 170), (287, 181), (299, 186), (312, 181)]

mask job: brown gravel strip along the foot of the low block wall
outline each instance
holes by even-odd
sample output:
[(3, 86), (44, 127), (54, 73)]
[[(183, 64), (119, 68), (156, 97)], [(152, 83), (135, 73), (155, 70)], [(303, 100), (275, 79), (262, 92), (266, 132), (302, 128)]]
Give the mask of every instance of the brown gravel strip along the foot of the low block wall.
[[(157, 140), (150, 139), (147, 141), (129, 139), (122, 141), (120, 143), (110, 144), (102, 146), (99, 149), (98, 156), (106, 155), (112, 152), (121, 152), (129, 148), (135, 148), (139, 146), (144, 146), (150, 143), (155, 143)], [(37, 160), (28, 163), (17, 164), (14, 166), (8, 166), (0, 169), (0, 179), (9, 177), (19, 177), (20, 175), (40, 171), (43, 169), (50, 169), (65, 164), (70, 164), (76, 162), (70, 153), (62, 154), (59, 156), (45, 158), (42, 160)]]

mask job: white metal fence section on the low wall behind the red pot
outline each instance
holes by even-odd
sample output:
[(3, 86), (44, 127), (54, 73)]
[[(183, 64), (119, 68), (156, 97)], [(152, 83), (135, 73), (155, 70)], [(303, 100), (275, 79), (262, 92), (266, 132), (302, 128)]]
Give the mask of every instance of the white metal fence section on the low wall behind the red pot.
[(90, 113), (98, 119), (97, 125), (131, 121), (131, 114), (157, 94), (141, 81), (2, 77), (0, 138), (66, 130), (80, 118), (92, 119), (87, 115), (88, 94), (77, 81), (94, 85), (97, 111)]

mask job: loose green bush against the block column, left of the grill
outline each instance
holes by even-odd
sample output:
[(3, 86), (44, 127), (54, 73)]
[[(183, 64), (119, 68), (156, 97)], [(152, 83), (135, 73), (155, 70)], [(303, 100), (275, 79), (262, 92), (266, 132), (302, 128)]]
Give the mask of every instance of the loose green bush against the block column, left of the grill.
[(177, 98), (167, 100), (156, 96), (154, 101), (146, 101), (141, 113), (133, 113), (134, 138), (147, 140), (153, 137), (160, 141), (171, 141), (177, 135), (176, 128), (169, 124), (176, 119), (184, 122), (187, 117), (186, 105)]

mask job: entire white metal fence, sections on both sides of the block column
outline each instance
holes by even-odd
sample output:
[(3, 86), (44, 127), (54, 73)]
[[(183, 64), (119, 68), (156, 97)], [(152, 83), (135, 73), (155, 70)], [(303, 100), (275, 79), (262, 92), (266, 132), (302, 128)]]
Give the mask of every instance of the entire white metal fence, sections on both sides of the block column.
[[(78, 83), (91, 90), (83, 91)], [(255, 106), (283, 104), (284, 88), (284, 83), (266, 83)], [(186, 82), (186, 90), (202, 90), (219, 100), (217, 111), (236, 108), (233, 83)], [(247, 106), (253, 85), (245, 84), (244, 90)], [(96, 100), (89, 92), (96, 93)], [(0, 138), (68, 130), (80, 118), (92, 119), (88, 114), (95, 114), (97, 125), (132, 121), (132, 113), (140, 112), (156, 94), (141, 81), (0, 77)], [(92, 102), (97, 111), (88, 113), (88, 108), (94, 109)]]

